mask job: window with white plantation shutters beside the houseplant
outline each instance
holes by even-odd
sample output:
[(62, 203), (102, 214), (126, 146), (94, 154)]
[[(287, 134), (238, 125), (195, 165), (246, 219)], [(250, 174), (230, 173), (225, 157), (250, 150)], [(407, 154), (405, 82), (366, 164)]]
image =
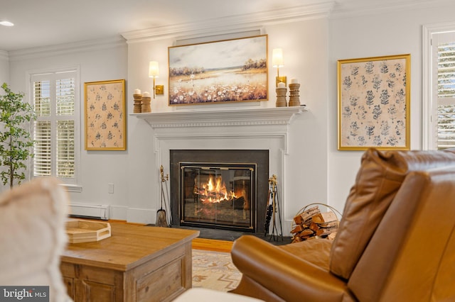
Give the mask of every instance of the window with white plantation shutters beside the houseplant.
[(57, 177), (77, 184), (79, 161), (79, 83), (77, 69), (31, 75), (36, 112), (34, 177)]

